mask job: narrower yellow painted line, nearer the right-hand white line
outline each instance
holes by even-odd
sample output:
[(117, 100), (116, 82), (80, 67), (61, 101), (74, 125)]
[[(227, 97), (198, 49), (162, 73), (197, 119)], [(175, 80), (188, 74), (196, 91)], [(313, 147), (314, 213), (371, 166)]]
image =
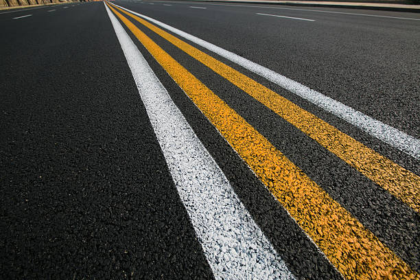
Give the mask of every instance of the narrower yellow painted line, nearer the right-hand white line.
[[(119, 9), (118, 7), (116, 8)], [(139, 16), (130, 14), (125, 10), (121, 10), (121, 12), (128, 14), (133, 19), (139, 21), (139, 23), (176, 45), (176, 47), (182, 49), (193, 58), (196, 58), (196, 60), (202, 62), (202, 64), (223, 78), (235, 84), (235, 86), (254, 97), (255, 100), (258, 100), (290, 124), (305, 132), (306, 135), (320, 143), (329, 152), (336, 154), (336, 156), (364, 174), (364, 176), (373, 180), (373, 182), (389, 191), (390, 194), (393, 194), (399, 200), (405, 202), (417, 211), (417, 213), (420, 213), (419, 176), (349, 137), (349, 135), (331, 126), (326, 121), (307, 112), (307, 110), (303, 110), (303, 108), (271, 91), (266, 86), (255, 82), (232, 67), (185, 43), (183, 40), (148, 23), (148, 21), (139, 18)]]

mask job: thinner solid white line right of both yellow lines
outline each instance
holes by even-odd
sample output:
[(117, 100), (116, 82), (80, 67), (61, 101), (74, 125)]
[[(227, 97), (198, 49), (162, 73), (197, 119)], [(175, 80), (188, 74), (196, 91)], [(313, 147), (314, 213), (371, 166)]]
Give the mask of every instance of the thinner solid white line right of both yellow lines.
[(314, 91), (313, 89), (310, 89), (307, 86), (300, 84), (299, 82), (295, 82), (294, 80), (291, 80), (279, 73), (276, 73), (275, 71), (272, 71), (264, 66), (258, 65), (255, 62), (243, 58), (242, 56), (233, 54), (231, 51), (227, 51), (226, 49), (222, 49), (221, 47), (218, 47), (205, 40), (197, 38), (196, 36), (178, 30), (175, 27), (172, 27), (165, 23), (161, 23), (160, 21), (156, 21), (156, 19), (152, 19), (149, 16), (133, 12), (132, 10), (128, 10), (121, 6), (118, 7), (128, 12), (131, 12), (132, 14), (136, 14), (137, 16), (141, 16), (143, 19), (147, 19), (152, 23), (156, 23), (156, 25), (159, 25), (165, 28), (166, 30), (169, 30), (170, 32), (178, 34), (179, 36), (186, 38), (187, 40), (190, 40), (191, 42), (196, 43), (201, 47), (205, 47), (206, 49), (213, 51), (215, 54), (218, 54), (224, 58), (227, 58), (228, 60), (231, 60), (232, 62), (237, 63), (237, 65), (240, 65), (248, 69), (249, 71), (261, 75), (267, 80), (274, 82), (275, 84), (278, 84), (284, 89), (287, 89), (288, 91), (299, 95), (300, 97), (312, 102), (320, 108), (327, 110), (329, 113), (334, 114), (337, 117), (340, 117), (341, 119), (344, 119), (345, 121), (349, 122), (349, 124), (360, 128), (369, 135), (376, 137), (381, 141), (384, 141), (388, 145), (391, 145), (394, 148), (405, 152), (406, 154), (409, 154), (415, 159), (420, 159), (419, 139), (407, 135), (405, 132), (397, 130), (392, 126), (388, 126), (387, 124), (384, 124), (381, 121), (378, 121), (377, 119), (373, 119), (373, 117), (364, 115), (364, 113), (358, 110), (355, 110), (345, 104), (342, 104), (341, 102), (338, 102), (332, 99), (331, 97), (323, 95), (318, 91)]

